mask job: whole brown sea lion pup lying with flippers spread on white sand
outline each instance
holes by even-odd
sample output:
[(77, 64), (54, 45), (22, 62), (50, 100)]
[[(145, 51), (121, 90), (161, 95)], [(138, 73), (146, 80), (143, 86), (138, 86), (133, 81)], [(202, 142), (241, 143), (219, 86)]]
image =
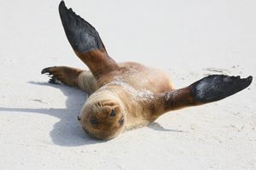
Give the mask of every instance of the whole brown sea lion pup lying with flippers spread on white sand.
[(62, 25), (75, 54), (90, 71), (55, 66), (42, 71), (68, 86), (91, 94), (78, 116), (84, 131), (96, 139), (113, 139), (124, 131), (143, 127), (167, 111), (224, 99), (247, 88), (253, 77), (212, 75), (186, 88), (174, 89), (162, 71), (109, 57), (96, 29), (59, 5)]

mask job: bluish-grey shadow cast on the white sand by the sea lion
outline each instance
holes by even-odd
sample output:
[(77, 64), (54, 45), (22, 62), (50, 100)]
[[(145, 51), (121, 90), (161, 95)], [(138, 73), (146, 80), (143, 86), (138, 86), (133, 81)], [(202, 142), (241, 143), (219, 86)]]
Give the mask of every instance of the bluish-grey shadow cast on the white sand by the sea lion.
[[(84, 133), (83, 129), (79, 126), (79, 122), (77, 121), (77, 116), (79, 115), (82, 105), (84, 105), (84, 101), (87, 99), (87, 94), (78, 88), (70, 88), (64, 85), (50, 84), (48, 82), (28, 83), (40, 86), (51, 86), (53, 88), (61, 89), (61, 92), (67, 96), (67, 108), (19, 109), (0, 107), (0, 111), (31, 112), (58, 117), (60, 122), (55, 123), (53, 130), (49, 133), (49, 135), (55, 144), (61, 146), (79, 146), (84, 144), (97, 144), (106, 142), (90, 138), (86, 133)], [(161, 127), (158, 122), (152, 122), (148, 125), (148, 127), (157, 131), (182, 132), (179, 130), (165, 129), (164, 127)]]

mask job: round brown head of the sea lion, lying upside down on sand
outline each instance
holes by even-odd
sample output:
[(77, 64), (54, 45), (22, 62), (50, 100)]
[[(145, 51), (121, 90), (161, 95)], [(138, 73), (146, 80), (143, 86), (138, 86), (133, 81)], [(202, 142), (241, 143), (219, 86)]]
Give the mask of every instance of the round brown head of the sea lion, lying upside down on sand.
[(92, 94), (78, 116), (84, 131), (96, 139), (113, 139), (125, 128), (125, 108), (117, 96)]

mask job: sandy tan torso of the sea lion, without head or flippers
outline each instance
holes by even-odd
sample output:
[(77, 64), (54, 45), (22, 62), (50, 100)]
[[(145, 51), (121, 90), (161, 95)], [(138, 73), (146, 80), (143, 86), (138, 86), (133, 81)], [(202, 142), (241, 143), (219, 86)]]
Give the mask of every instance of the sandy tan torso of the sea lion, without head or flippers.
[[(88, 88), (84, 87), (84, 82), (88, 79), (86, 76), (88, 75), (79, 77), (79, 87), (82, 89)], [(118, 96), (125, 105), (126, 129), (153, 122), (160, 115), (159, 108), (154, 106), (156, 105), (154, 94), (166, 93), (173, 89), (171, 79), (164, 71), (134, 62), (119, 64), (117, 71), (100, 78), (96, 84), (99, 88), (89, 92), (94, 94), (88, 98), (88, 101), (96, 95), (101, 96), (106, 93)]]

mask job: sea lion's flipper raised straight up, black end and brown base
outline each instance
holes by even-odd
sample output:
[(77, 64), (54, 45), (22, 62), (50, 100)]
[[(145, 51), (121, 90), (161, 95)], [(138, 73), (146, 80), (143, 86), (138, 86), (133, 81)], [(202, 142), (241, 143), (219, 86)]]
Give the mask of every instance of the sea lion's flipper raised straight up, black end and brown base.
[(59, 5), (62, 26), (75, 54), (79, 56), (96, 77), (117, 69), (119, 66), (111, 59), (96, 29), (86, 20), (67, 9), (61, 1)]

